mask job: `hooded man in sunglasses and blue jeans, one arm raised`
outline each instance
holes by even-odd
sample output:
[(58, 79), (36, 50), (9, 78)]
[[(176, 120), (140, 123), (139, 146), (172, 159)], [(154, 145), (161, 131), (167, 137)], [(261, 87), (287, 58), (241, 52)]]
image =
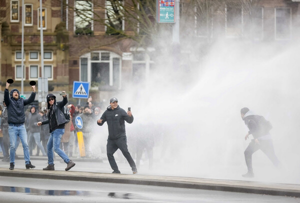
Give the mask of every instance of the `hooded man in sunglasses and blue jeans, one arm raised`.
[(69, 170), (75, 165), (75, 163), (63, 152), (63, 150), (59, 148), (61, 136), (64, 133), (64, 124), (66, 123), (66, 119), (63, 114), (63, 107), (67, 103), (67, 98), (65, 91), (62, 92), (62, 101), (56, 102), (56, 96), (51, 93), (46, 96), (48, 104), (48, 119), (37, 122), (38, 126), (49, 124), (51, 133), (47, 142), (48, 165), (43, 168), (43, 170), (54, 170), (53, 149), (67, 164), (65, 170)]

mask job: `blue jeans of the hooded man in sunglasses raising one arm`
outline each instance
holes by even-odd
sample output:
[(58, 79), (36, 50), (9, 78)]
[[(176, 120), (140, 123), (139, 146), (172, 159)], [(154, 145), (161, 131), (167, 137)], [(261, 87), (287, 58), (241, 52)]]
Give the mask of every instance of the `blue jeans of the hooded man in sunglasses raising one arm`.
[(63, 159), (65, 163), (68, 163), (70, 159), (68, 156), (59, 148), (60, 139), (64, 129), (55, 129), (51, 132), (50, 137), (47, 142), (47, 155), (48, 155), (48, 164), (54, 165), (53, 162), (53, 149), (54, 151)]

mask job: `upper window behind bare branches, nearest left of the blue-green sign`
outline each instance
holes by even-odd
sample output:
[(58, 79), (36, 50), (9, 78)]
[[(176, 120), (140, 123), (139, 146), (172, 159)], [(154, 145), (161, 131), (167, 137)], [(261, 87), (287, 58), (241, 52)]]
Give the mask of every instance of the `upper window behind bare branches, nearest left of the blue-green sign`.
[(124, 30), (124, 21), (123, 21), (123, 1), (121, 0), (106, 0), (106, 33), (115, 35), (119, 34)]

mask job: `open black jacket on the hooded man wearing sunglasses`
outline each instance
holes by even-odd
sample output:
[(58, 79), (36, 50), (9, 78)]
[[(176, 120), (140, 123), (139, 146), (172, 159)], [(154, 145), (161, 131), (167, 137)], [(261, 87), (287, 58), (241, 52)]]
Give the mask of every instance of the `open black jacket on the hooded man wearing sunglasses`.
[[(54, 97), (54, 103), (52, 106), (50, 106), (49, 104), (49, 97)], [(62, 101), (57, 101), (57, 102), (56, 102), (56, 96), (54, 96), (53, 94), (48, 94), (46, 98), (48, 103), (48, 112), (47, 112), (48, 119), (43, 120), (41, 124), (42, 125), (49, 124), (50, 132), (58, 128), (64, 128), (64, 123), (66, 122), (66, 120), (62, 111), (63, 111), (63, 106), (67, 103), (67, 98), (63, 97)]]

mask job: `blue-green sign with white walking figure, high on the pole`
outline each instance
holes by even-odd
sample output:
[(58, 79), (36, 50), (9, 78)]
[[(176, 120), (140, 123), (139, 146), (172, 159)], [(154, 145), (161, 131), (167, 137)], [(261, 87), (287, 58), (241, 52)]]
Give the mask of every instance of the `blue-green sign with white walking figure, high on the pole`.
[(175, 0), (156, 0), (157, 22), (175, 22)]

